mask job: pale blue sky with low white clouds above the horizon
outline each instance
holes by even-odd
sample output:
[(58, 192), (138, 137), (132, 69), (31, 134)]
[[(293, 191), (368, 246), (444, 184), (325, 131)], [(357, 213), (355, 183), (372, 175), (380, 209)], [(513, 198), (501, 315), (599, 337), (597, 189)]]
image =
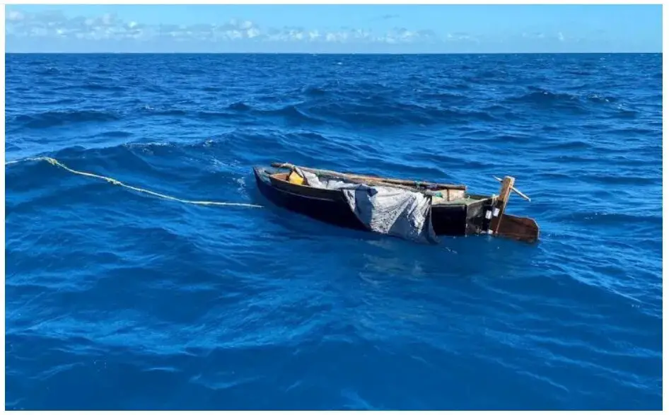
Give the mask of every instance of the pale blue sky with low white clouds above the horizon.
[(661, 5), (6, 6), (7, 52), (661, 52)]

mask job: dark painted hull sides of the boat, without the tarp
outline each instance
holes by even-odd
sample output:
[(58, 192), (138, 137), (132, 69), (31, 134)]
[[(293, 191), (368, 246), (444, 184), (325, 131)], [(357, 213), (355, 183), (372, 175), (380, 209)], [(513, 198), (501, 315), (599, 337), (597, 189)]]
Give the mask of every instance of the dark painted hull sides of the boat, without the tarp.
[[(351, 211), (342, 192), (293, 185), (277, 180), (273, 173), (276, 172), (254, 168), (260, 193), (277, 206), (335, 226), (368, 230)], [(450, 236), (487, 232), (490, 221), (485, 216), (493, 202), (493, 198), (483, 197), (468, 204), (434, 204), (431, 207), (434, 232)]]

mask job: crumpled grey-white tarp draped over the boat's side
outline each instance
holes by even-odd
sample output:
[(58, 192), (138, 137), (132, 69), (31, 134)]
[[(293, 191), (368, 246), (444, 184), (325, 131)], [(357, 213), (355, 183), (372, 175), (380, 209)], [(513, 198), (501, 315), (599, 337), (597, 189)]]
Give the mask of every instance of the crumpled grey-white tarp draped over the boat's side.
[(315, 175), (299, 168), (304, 184), (339, 190), (349, 208), (371, 231), (414, 242), (438, 243), (431, 221), (432, 197), (423, 192), (381, 185), (348, 182), (340, 177)]

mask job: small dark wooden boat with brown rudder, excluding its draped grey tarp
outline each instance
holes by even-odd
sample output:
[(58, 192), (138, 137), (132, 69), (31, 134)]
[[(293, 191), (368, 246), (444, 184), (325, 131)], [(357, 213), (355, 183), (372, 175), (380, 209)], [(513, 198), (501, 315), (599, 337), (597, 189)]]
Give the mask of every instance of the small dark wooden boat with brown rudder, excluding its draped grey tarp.
[(432, 196), (430, 219), (436, 235), (499, 235), (525, 242), (539, 238), (539, 227), (531, 218), (506, 214), (511, 192), (518, 191), (513, 177), (504, 177), (499, 194), (470, 194), (465, 185), (391, 179), (369, 175), (339, 173), (292, 165), (272, 163), (272, 168), (255, 167), (257, 186), (264, 197), (290, 211), (304, 214), (332, 225), (369, 230), (351, 211), (344, 194), (337, 189), (304, 185), (296, 174), (302, 170), (316, 175), (339, 177), (347, 182), (412, 189)]

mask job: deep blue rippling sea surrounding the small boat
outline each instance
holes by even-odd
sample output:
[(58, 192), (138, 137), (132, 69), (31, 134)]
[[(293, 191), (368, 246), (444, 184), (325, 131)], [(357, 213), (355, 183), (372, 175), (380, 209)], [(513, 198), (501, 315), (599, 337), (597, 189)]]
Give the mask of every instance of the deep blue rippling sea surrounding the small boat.
[[(8, 54), (8, 409), (661, 409), (661, 54)], [(283, 211), (289, 162), (534, 245)]]

